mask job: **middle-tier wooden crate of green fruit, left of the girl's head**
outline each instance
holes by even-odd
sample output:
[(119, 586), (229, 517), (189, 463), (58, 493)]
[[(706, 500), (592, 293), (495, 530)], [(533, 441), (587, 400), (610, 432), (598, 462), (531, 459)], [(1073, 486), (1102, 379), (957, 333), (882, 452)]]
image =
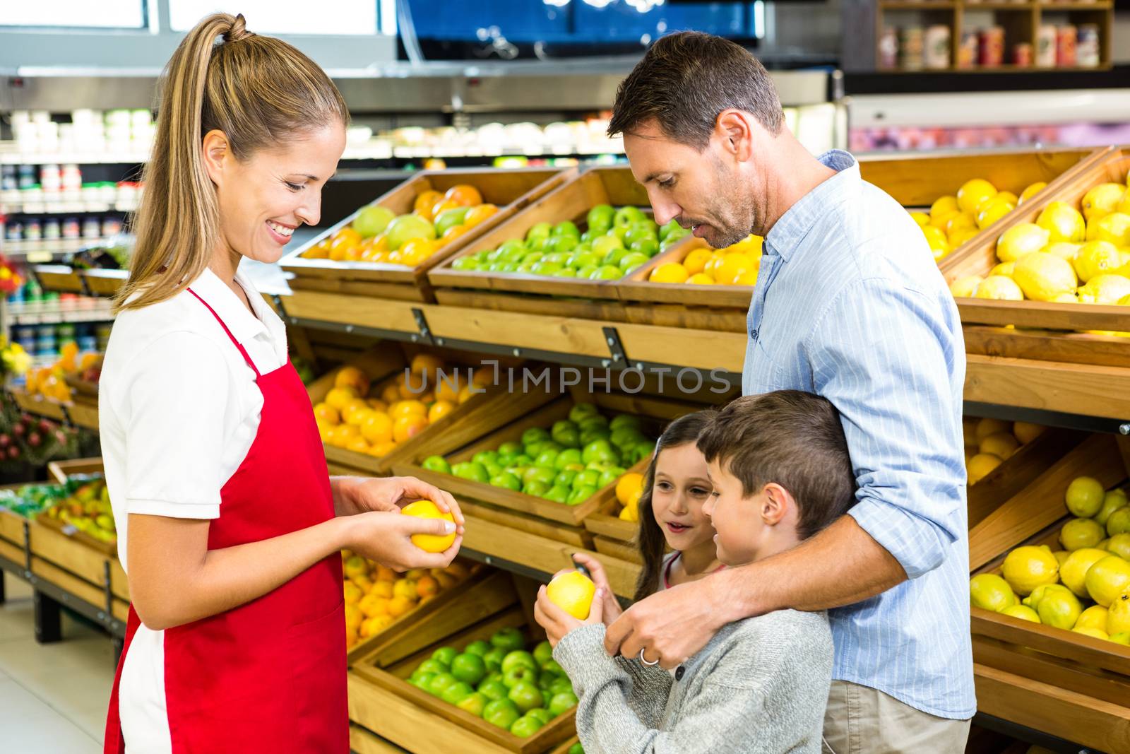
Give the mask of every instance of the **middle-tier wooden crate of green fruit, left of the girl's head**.
[[(643, 395), (589, 393), (575, 389), (575, 387), (568, 395), (556, 398), (553, 395), (531, 391), (523, 393), (521, 399), (533, 404), (528, 409), (529, 413), (511, 424), (496, 422), (489, 427), (484, 427), (486, 432), (475, 443), (458, 452), (444, 454), (447, 462), (454, 465), (467, 461), (479, 451), (494, 450), (504, 442), (518, 441), (522, 433), (531, 427), (548, 428), (554, 422), (566, 418), (570, 409), (577, 402), (596, 404), (602, 414), (640, 416), (643, 419), (644, 433), (653, 437), (658, 437), (671, 419), (703, 408), (699, 405)], [(584, 528), (584, 520), (605, 506), (609, 500), (616, 497), (616, 482), (612, 482), (580, 504), (556, 503), (522, 492), (431, 471), (419, 463), (432, 454), (440, 453), (428, 452), (428, 449), (424, 448), (410, 461), (394, 463), (393, 470), (400, 475), (419, 477), (437, 487), (447, 489), (460, 500), (463, 510), (472, 517), (580, 547), (589, 547), (593, 544), (590, 530)], [(641, 466), (642, 463), (637, 463), (633, 468), (641, 468)]]

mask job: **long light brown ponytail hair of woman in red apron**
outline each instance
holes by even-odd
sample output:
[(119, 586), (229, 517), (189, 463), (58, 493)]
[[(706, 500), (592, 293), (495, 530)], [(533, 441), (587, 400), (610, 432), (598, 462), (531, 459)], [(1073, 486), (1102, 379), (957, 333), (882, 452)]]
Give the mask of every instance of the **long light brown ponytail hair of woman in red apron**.
[(345, 127), (349, 119), (325, 71), (286, 42), (249, 33), (242, 15), (214, 14), (197, 24), (162, 78), (157, 133), (133, 218), (137, 245), (119, 310), (173, 297), (205, 271), (216, 251), (219, 209), (205, 171), (205, 135), (223, 131), (232, 154), (245, 159), (305, 131), (333, 122)]

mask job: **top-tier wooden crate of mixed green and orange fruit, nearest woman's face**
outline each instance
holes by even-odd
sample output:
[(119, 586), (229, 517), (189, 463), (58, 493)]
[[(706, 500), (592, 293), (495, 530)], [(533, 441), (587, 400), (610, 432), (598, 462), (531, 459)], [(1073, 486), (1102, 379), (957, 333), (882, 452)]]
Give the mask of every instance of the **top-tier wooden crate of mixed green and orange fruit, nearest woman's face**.
[(424, 191), (444, 192), (453, 185), (469, 183), (477, 188), (487, 203), (498, 206), (498, 211), (473, 228), (443, 244), (435, 254), (416, 267), (384, 262), (336, 262), (328, 259), (305, 259), (302, 254), (322, 239), (354, 222), (364, 207), (314, 240), (282, 258), (282, 269), (294, 272), (290, 287), (307, 291), (329, 291), (372, 295), (402, 301), (435, 301), (427, 281), (433, 267), (463, 249), (468, 243), (490, 232), (523, 207), (545, 196), (570, 176), (575, 168), (531, 167), (521, 170), (461, 168), (450, 171), (421, 171), (399, 184), (372, 203), (388, 207), (397, 215), (412, 211), (412, 205)]

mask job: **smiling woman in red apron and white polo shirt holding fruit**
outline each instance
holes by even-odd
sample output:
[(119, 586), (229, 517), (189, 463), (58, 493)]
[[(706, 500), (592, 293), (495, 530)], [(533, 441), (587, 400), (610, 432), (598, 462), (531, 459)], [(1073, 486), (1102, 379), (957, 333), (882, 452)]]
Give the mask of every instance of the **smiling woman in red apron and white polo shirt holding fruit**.
[[(221, 38), (220, 38), (221, 37)], [(319, 220), (346, 105), (290, 45), (214, 15), (177, 47), (106, 352), (102, 449), (129, 573), (106, 752), (348, 752), (339, 551), (442, 567), (400, 515), (451, 495), (330, 478), (282, 322), (236, 272)]]

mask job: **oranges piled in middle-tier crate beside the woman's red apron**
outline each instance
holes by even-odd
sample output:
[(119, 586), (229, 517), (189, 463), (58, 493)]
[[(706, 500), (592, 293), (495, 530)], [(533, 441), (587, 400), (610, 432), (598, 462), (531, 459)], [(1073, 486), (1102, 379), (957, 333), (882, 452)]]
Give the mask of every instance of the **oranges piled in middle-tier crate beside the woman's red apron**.
[(314, 419), (323, 443), (380, 458), (470, 400), (489, 380), (488, 370), (475, 370), (468, 383), (464, 370), (457, 378), (429, 354), (417, 354), (408, 372), (380, 384), (359, 367), (344, 366), (314, 405)]

